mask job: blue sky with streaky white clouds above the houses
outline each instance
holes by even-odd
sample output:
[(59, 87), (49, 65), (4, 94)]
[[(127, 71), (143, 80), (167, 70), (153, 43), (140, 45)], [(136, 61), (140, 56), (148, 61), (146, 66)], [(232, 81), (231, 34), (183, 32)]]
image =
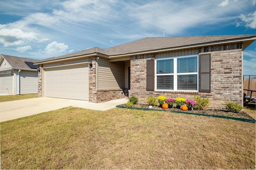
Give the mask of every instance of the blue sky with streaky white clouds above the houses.
[[(46, 59), (146, 37), (256, 34), (256, 0), (0, 0), (0, 54)], [(256, 75), (256, 41), (244, 50)]]

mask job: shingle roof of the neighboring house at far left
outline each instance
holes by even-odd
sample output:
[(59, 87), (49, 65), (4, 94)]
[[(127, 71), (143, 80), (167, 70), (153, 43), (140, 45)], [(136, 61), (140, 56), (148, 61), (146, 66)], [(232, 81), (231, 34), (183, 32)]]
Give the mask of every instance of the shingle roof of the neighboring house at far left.
[(15, 56), (10, 56), (10, 55), (4, 55), (2, 54), (4, 59), (12, 66), (12, 68), (20, 68), (20, 69), (31, 69), (25, 61), (36, 63), (39, 62), (40, 60), (35, 60), (35, 59), (27, 59), (23, 57), (15, 57)]

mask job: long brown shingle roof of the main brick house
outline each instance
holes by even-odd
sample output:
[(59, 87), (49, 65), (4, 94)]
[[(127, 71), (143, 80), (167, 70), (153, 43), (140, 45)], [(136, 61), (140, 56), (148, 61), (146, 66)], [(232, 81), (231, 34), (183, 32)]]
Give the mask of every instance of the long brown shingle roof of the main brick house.
[[(132, 41), (130, 43), (125, 43), (115, 47), (110, 47), (108, 49), (101, 49), (94, 47), (91, 49), (86, 49), (83, 51), (78, 51), (76, 53), (71, 53), (67, 55), (62, 55), (59, 57), (52, 57), (48, 59), (41, 60), (53, 61), (57, 59), (64, 59), (69, 57), (76, 57), (82, 55), (90, 55), (94, 53), (99, 53), (107, 56), (117, 56), (132, 53), (140, 53), (147, 51), (154, 51), (160, 49), (171, 49), (171, 48), (186, 48), (196, 45), (203, 44), (214, 44), (214, 43), (225, 43), (228, 41), (246, 41), (246, 39), (256, 39), (256, 35), (218, 35), (218, 36), (193, 36), (193, 37), (148, 37), (144, 39), (139, 39)], [(249, 43), (250, 44), (250, 43)], [(39, 63), (40, 63), (39, 62)]]

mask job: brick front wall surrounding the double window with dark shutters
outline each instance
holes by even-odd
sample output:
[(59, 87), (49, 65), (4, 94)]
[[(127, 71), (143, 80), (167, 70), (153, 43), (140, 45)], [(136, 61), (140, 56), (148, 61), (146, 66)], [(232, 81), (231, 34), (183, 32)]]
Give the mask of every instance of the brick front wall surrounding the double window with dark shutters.
[(210, 93), (146, 91), (146, 60), (154, 58), (154, 55), (142, 55), (131, 57), (129, 96), (136, 96), (140, 103), (145, 103), (148, 96), (182, 97), (193, 100), (196, 94), (202, 98), (208, 98), (211, 102), (209, 108), (213, 109), (223, 109), (228, 101), (242, 105), (242, 49), (207, 53), (211, 53)]

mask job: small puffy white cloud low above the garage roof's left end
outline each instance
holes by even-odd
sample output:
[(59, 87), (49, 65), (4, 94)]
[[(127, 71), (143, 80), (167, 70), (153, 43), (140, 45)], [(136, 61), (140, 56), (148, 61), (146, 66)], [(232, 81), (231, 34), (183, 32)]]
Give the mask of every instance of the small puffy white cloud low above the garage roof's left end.
[(65, 45), (64, 43), (57, 43), (56, 41), (50, 43), (47, 45), (47, 47), (44, 49), (47, 54), (59, 54), (64, 53), (68, 49), (68, 45)]

